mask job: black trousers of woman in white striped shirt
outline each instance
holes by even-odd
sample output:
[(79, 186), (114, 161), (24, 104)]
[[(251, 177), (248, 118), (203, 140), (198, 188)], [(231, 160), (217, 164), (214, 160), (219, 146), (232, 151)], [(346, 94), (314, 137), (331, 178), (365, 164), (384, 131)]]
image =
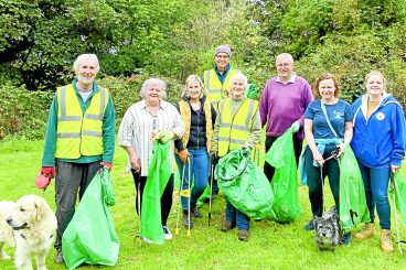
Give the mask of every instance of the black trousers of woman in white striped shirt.
[[(137, 214), (139, 215), (138, 209), (141, 209), (143, 188), (146, 187), (146, 183), (147, 183), (148, 177), (147, 176), (141, 176), (133, 169), (131, 169), (131, 173), (132, 173), (133, 184), (136, 185), (136, 192), (137, 192), (136, 210), (137, 210)], [(138, 191), (138, 188), (139, 188), (139, 191)], [(162, 193), (162, 196), (161, 196), (162, 226), (167, 226), (167, 220), (168, 220), (168, 217), (169, 217), (169, 213), (171, 212), (172, 193), (173, 193), (173, 173), (169, 177), (168, 184), (167, 184), (167, 186), (165, 186), (165, 188)], [(140, 199), (141, 205), (138, 205), (138, 196), (140, 196), (139, 199)]]

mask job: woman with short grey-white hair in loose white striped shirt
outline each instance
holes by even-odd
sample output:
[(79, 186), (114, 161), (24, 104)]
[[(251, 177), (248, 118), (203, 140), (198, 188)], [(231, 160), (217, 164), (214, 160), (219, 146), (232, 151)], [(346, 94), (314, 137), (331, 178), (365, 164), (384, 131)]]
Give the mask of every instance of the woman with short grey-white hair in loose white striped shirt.
[[(184, 125), (177, 108), (163, 100), (167, 97), (165, 89), (167, 84), (162, 79), (147, 79), (140, 90), (142, 99), (128, 108), (118, 130), (118, 143), (128, 153), (129, 169), (138, 190), (137, 212), (142, 205), (143, 187), (148, 181), (152, 160), (153, 140), (159, 139), (162, 143), (170, 141), (168, 156), (173, 156), (173, 140), (181, 138), (184, 132)], [(171, 175), (162, 196), (157, 198), (161, 204), (162, 230), (167, 240), (172, 239), (167, 226), (173, 192), (173, 159), (169, 160), (172, 166)]]

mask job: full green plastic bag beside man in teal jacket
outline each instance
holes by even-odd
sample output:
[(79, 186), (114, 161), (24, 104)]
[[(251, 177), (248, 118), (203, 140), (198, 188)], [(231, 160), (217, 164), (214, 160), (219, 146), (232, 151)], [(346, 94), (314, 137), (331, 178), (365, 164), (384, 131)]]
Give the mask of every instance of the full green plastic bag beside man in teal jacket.
[(115, 266), (119, 241), (108, 206), (115, 204), (108, 169), (92, 180), (62, 237), (62, 250), (68, 269), (82, 263)]

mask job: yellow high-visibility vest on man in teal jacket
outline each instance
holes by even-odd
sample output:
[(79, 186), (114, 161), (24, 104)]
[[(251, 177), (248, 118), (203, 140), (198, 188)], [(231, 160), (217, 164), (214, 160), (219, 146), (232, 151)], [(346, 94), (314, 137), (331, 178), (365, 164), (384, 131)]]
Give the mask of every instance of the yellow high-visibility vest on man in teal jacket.
[(101, 128), (109, 93), (107, 89), (99, 89), (83, 114), (73, 85), (57, 87), (55, 158), (78, 159), (81, 155), (104, 153)]

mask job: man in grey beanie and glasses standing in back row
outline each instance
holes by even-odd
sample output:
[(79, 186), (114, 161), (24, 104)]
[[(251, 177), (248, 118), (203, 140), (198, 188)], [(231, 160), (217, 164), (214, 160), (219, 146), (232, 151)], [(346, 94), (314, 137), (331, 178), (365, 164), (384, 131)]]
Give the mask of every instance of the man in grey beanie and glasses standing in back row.
[(227, 97), (229, 79), (237, 73), (228, 63), (231, 56), (232, 51), (228, 45), (217, 46), (214, 51), (214, 66), (203, 75), (203, 83), (209, 90), (207, 100), (216, 110), (218, 101)]

